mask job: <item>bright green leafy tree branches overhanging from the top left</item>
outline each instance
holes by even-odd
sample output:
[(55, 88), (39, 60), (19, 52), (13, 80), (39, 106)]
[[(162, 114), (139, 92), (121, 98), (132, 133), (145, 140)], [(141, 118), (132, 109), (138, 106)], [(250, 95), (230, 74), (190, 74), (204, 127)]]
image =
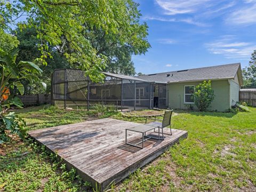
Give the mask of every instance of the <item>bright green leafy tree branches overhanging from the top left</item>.
[[(107, 41), (119, 46), (131, 45), (130, 53), (142, 54), (150, 47), (147, 42), (146, 23), (139, 23), (138, 4), (131, 0), (109, 1), (13, 1), (2, 2), (0, 27), (10, 28), (10, 23), (25, 12), (28, 23), (19, 23), (20, 28), (35, 27), (40, 39), (41, 61), (51, 58), (49, 46), (65, 55), (74, 68), (86, 71), (93, 81), (110, 61), (106, 52), (101, 52), (89, 41), (92, 31), (100, 31)], [(2, 26), (1, 26), (2, 25)], [(114, 57), (110, 57), (113, 59)]]

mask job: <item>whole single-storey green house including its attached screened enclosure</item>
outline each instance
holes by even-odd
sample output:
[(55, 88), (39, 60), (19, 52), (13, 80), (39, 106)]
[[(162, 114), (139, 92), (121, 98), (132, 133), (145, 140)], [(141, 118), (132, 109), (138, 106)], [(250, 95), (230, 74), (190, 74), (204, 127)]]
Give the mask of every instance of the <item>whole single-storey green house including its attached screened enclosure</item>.
[[(194, 105), (195, 86), (212, 81), (215, 98), (209, 110), (226, 111), (239, 100), (243, 85), (240, 63), (170, 71), (131, 77), (106, 73), (104, 82), (94, 83), (76, 69), (57, 69), (52, 75), (52, 103), (63, 108), (96, 103), (118, 109), (186, 109)], [(88, 91), (89, 90), (89, 91)]]

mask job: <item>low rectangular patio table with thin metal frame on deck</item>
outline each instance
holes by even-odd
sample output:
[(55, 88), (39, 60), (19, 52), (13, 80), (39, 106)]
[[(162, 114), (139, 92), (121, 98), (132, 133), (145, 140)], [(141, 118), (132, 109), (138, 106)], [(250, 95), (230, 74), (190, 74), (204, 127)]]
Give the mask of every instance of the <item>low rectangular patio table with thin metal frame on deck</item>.
[[(157, 128), (158, 128), (158, 137), (146, 135), (146, 132), (151, 131), (151, 130), (155, 130)], [(134, 146), (134, 147), (139, 147), (139, 148), (143, 149), (144, 141), (147, 141), (148, 139), (151, 139), (151, 138), (160, 140), (159, 129), (160, 129), (159, 126), (148, 125), (148, 124), (141, 124), (141, 125), (133, 126), (133, 127), (130, 127), (130, 128), (126, 128), (125, 129), (125, 144), (130, 145), (130, 146)], [(142, 140), (140, 142), (135, 143), (135, 144), (127, 142), (127, 131), (142, 133)], [(145, 137), (147, 139), (144, 139)], [(142, 143), (142, 147), (138, 146), (140, 143)]]

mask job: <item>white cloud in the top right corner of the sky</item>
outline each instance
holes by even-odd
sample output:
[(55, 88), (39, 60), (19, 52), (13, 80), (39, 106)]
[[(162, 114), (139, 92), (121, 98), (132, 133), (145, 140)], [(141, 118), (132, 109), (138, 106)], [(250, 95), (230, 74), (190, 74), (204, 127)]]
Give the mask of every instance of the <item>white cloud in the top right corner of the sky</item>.
[(239, 10), (229, 14), (226, 22), (236, 25), (250, 25), (256, 23), (256, 4), (248, 4), (247, 6), (240, 7)]

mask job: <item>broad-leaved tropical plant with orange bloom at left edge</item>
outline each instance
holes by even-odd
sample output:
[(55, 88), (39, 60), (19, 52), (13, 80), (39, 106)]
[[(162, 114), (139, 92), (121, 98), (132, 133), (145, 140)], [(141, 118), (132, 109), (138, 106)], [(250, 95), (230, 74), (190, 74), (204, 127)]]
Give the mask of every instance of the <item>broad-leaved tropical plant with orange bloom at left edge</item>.
[(23, 94), (24, 87), (20, 82), (21, 79), (28, 79), (30, 82), (37, 81), (36, 75), (42, 72), (32, 62), (20, 61), (17, 64), (15, 62), (17, 54), (18, 49), (6, 52), (0, 47), (0, 144), (10, 140), (6, 131), (16, 133), (20, 137), (25, 134), (24, 126), (26, 124), (23, 119), (15, 115), (14, 112), (8, 113), (12, 105), (19, 108), (23, 105), (19, 98), (11, 95), (10, 89), (17, 87), (20, 94)]

